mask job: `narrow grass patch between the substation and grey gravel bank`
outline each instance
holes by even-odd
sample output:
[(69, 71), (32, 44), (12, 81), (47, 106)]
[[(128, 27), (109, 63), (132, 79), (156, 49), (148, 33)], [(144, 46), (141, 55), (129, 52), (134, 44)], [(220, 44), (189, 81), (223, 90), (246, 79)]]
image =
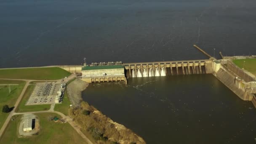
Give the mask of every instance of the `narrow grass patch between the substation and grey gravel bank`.
[[(75, 80), (75, 78), (72, 79), (72, 80), (69, 80), (67, 85), (69, 83), (71, 83), (72, 81), (74, 81), (74, 80)], [(71, 101), (69, 100), (69, 97), (68, 97), (68, 94), (67, 94), (67, 85), (66, 85), (66, 90), (64, 92), (64, 96), (63, 96), (63, 100), (62, 100), (61, 104), (55, 104), (55, 106), (54, 106), (54, 111), (61, 112), (64, 115), (68, 115), (69, 106), (71, 104)]]

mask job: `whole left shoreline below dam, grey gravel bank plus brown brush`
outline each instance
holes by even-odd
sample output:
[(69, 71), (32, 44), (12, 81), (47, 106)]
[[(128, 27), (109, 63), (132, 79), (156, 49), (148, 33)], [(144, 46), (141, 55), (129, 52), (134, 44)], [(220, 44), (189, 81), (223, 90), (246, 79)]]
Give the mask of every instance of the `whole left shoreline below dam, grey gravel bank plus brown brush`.
[[(107, 141), (117, 142), (119, 144), (130, 144), (134, 142), (136, 144), (146, 144), (144, 139), (131, 131), (131, 129), (126, 128), (120, 123), (114, 122), (110, 117), (107, 117), (98, 109), (91, 106), (86, 101), (83, 101), (82, 91), (85, 91), (89, 86), (89, 83), (76, 79), (69, 83), (69, 85), (67, 87), (67, 89), (69, 89), (68, 97), (74, 105), (74, 107), (69, 109), (69, 116), (74, 119), (75, 123), (77, 123), (80, 128), (90, 133), (95, 141), (104, 142), (106, 141), (105, 138), (107, 138)], [(80, 85), (80, 87), (77, 87), (77, 85)], [(70, 88), (74, 88), (72, 90), (72, 92), (74, 92), (72, 95), (70, 93)], [(78, 101), (80, 101), (80, 104), (78, 104)], [(89, 114), (84, 115), (84, 111), (87, 111)], [(100, 138), (94, 136), (96, 130), (100, 131)]]

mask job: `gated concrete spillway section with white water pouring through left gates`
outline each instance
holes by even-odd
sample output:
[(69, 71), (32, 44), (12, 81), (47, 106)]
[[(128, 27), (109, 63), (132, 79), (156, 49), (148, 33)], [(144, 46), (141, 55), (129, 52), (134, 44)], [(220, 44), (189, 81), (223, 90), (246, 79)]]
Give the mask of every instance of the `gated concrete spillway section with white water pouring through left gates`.
[(158, 77), (212, 73), (212, 60), (124, 63), (126, 77)]

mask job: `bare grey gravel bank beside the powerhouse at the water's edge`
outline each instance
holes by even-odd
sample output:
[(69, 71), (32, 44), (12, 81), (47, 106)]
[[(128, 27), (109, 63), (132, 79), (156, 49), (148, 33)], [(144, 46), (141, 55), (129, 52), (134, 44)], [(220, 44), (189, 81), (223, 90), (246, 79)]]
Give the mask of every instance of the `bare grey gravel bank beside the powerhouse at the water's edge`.
[(74, 107), (80, 106), (81, 102), (83, 101), (82, 91), (84, 91), (88, 85), (88, 83), (79, 79), (75, 79), (69, 83), (69, 85), (67, 85), (67, 94)]

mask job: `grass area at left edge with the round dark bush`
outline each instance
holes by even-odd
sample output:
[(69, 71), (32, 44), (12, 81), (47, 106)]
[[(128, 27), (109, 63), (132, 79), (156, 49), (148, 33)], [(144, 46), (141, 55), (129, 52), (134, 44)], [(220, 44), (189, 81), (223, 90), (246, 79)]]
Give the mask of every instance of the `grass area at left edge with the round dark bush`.
[(9, 93), (9, 87), (7, 85), (0, 85), (0, 128), (9, 115), (9, 113), (2, 112), (3, 105), (7, 104), (9, 107), (13, 107), (25, 83), (26, 82), (19, 80), (0, 80), (0, 84), (19, 84), (11, 85), (11, 93)]

